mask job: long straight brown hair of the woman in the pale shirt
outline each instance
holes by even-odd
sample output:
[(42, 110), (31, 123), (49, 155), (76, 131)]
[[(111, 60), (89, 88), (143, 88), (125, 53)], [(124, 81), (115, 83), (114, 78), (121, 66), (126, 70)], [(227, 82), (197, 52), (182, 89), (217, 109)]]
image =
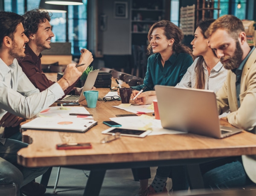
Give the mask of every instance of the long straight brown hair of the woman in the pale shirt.
[[(207, 39), (207, 37), (205, 36), (205, 32), (207, 31), (210, 24), (213, 23), (214, 21), (215, 21), (215, 19), (206, 19), (206, 20), (201, 20), (198, 23), (198, 27), (200, 28), (201, 33), (203, 34), (205, 39)], [(213, 52), (213, 54), (215, 55), (214, 52)], [(194, 88), (196, 88), (196, 89), (204, 89), (205, 78), (204, 78), (203, 63), (204, 63), (203, 56), (199, 56), (198, 61), (195, 65), (196, 80), (195, 80), (195, 87)]]

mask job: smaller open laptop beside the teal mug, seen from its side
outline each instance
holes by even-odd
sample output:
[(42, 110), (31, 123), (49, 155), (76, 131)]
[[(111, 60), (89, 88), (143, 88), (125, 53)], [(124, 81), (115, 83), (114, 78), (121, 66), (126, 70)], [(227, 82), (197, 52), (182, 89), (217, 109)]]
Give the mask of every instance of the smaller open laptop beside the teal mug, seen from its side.
[(85, 99), (84, 91), (91, 90), (96, 81), (97, 75), (99, 73), (99, 69), (89, 72), (86, 81), (84, 83), (83, 90), (81, 95), (66, 95), (63, 99), (58, 100), (56, 102), (80, 102)]

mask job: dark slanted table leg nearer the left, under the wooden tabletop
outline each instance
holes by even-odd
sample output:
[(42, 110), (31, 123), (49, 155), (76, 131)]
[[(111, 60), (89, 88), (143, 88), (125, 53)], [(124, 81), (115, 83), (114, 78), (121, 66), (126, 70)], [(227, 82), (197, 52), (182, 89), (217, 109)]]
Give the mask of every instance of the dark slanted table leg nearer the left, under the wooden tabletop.
[(84, 190), (84, 196), (99, 196), (106, 170), (91, 170)]

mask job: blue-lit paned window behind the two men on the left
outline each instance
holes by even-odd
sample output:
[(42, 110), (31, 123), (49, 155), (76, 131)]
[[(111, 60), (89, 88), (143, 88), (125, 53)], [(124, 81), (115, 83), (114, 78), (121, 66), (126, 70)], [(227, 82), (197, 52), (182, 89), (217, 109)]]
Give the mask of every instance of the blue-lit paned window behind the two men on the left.
[[(38, 8), (40, 0), (27, 0), (27, 10)], [(71, 53), (80, 56), (80, 50), (87, 48), (87, 0), (84, 5), (68, 6), (68, 41)], [(4, 0), (4, 10), (24, 14), (24, 0)], [(52, 42), (66, 42), (66, 13), (52, 13), (50, 24), (54, 37)]]

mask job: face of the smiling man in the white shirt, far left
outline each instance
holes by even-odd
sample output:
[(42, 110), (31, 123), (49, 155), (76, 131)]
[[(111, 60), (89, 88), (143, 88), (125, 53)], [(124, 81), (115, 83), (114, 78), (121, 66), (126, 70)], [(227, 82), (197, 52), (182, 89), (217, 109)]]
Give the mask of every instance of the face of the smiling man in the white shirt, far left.
[(25, 57), (25, 45), (29, 41), (28, 37), (24, 34), (22, 23), (17, 25), (16, 31), (13, 36), (12, 46), (9, 50), (9, 55), (12, 58)]

